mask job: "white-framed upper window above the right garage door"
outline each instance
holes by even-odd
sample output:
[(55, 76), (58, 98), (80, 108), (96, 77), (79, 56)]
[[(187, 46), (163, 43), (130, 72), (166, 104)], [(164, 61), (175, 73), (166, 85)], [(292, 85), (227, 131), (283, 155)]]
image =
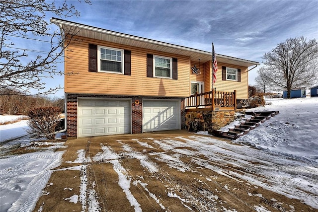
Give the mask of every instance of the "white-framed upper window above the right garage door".
[(172, 78), (172, 58), (154, 55), (154, 76)]

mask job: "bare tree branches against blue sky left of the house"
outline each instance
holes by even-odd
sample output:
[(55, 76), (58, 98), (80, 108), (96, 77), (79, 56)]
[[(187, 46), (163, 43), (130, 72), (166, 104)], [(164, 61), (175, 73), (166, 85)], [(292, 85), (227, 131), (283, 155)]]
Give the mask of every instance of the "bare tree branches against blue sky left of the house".
[[(90, 3), (89, 0), (85, 2)], [(37, 94), (55, 93), (61, 89), (60, 86), (46, 89), (42, 79), (64, 74), (57, 65), (64, 61), (63, 52), (70, 42), (66, 38), (73, 33), (64, 32), (61, 36), (59, 30), (53, 31), (45, 20), (47, 15), (71, 17), (79, 16), (79, 11), (74, 5), (67, 4), (67, 0), (61, 5), (47, 0), (1, 0), (0, 95), (20, 95), (20, 92), (14, 92), (16, 88), (23, 95), (30, 94), (33, 89)], [(34, 42), (38, 47), (21, 47), (18, 40), (24, 45)]]

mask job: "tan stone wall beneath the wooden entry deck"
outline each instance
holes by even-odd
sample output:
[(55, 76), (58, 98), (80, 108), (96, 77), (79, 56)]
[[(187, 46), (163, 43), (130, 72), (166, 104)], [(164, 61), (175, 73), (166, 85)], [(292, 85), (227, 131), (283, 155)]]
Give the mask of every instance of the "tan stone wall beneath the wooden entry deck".
[(185, 126), (193, 121), (199, 121), (198, 131), (220, 130), (235, 119), (235, 111), (197, 111), (187, 112), (185, 115)]

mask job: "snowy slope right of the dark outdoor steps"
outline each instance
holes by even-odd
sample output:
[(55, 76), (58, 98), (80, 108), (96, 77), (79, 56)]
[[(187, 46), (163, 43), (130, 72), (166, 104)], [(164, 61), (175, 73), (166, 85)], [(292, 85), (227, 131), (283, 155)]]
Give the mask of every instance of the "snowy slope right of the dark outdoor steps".
[(248, 111), (279, 111), (235, 142), (318, 162), (318, 98), (266, 99)]

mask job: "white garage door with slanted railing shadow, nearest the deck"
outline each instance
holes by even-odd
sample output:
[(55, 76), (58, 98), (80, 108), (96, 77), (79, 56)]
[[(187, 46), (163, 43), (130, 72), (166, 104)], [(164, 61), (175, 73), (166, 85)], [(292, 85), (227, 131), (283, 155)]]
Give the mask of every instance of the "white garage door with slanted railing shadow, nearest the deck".
[(143, 132), (177, 130), (179, 123), (178, 100), (143, 100)]

